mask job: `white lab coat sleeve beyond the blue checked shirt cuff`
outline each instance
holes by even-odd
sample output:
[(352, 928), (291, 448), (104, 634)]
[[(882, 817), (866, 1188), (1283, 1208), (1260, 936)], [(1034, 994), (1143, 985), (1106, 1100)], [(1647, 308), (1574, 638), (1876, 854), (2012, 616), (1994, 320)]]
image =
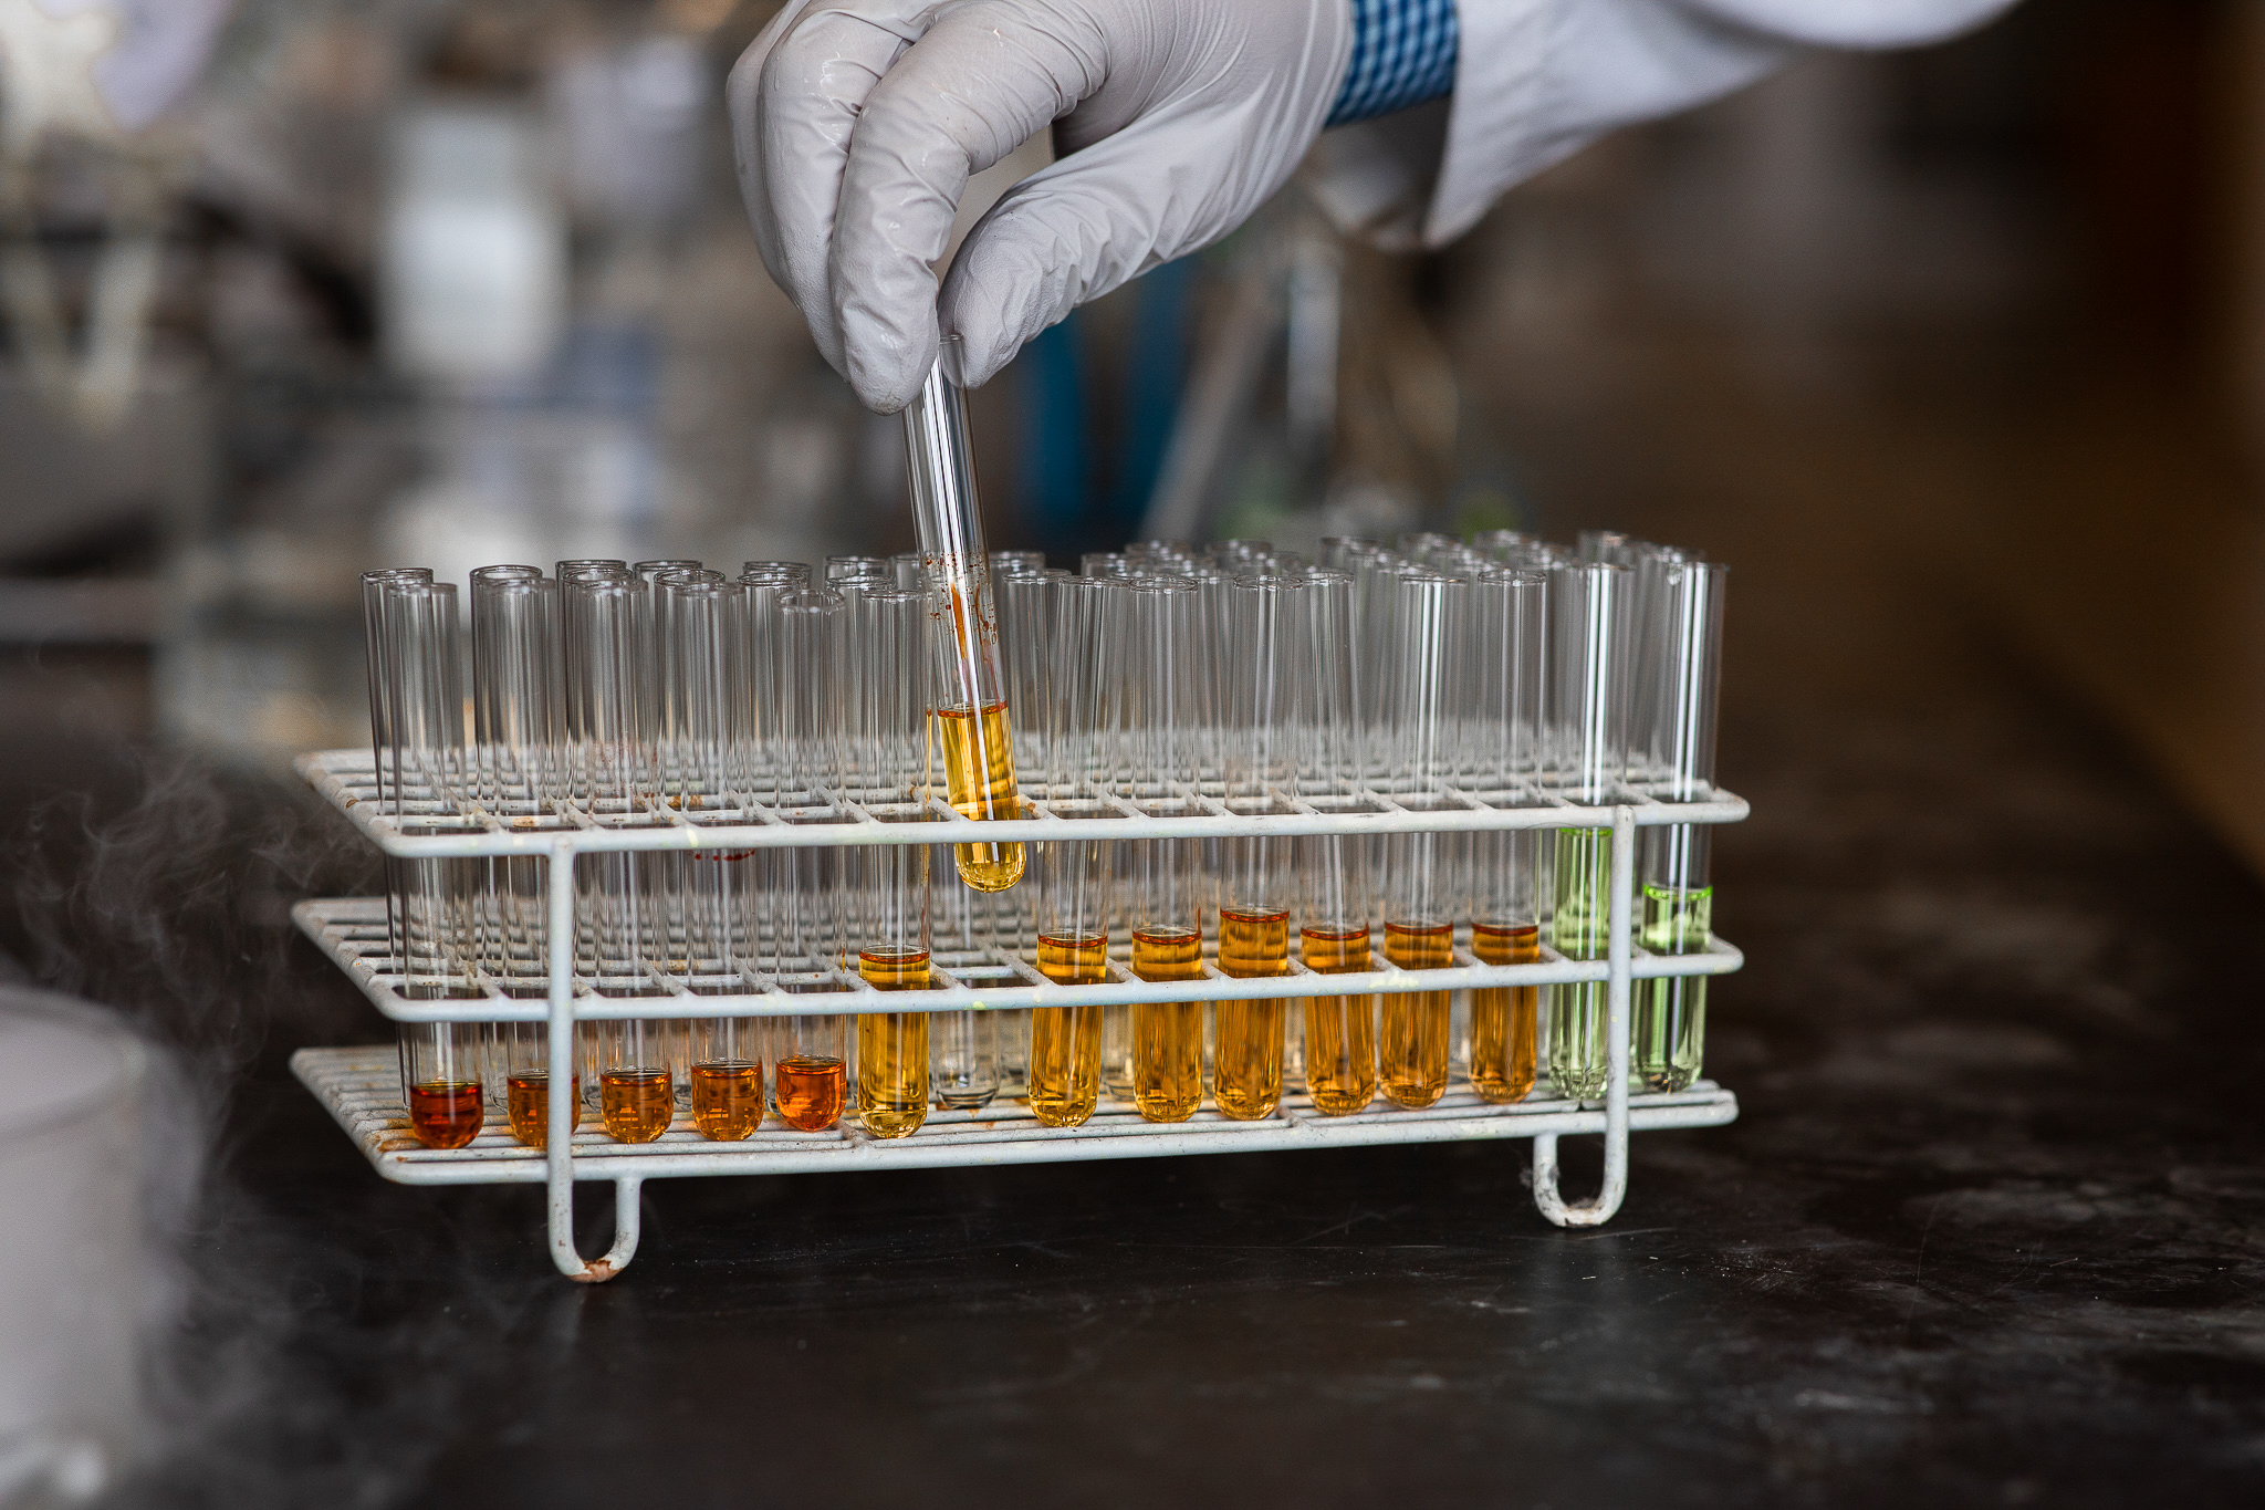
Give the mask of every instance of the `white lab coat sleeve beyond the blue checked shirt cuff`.
[(1456, 0), (1454, 95), (1325, 131), (1307, 186), (1348, 231), (1438, 247), (1606, 131), (1728, 95), (1801, 48), (1907, 48), (2011, 0)]

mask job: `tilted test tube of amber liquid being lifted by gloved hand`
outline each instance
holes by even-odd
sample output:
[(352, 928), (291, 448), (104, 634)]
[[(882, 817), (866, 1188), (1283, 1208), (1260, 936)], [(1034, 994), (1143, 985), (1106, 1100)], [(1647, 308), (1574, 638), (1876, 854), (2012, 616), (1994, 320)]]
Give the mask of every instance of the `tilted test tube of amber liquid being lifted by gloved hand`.
[[(947, 337), (947, 344), (954, 340)], [(942, 353), (920, 394), (904, 405), (904, 439), (929, 593), (929, 709), (945, 795), (963, 817), (1012, 820), (1022, 804), (999, 668), (999, 616), (967, 446), (967, 405), (945, 376)], [(954, 860), (960, 881), (978, 892), (1003, 892), (1022, 881), (1022, 844), (958, 844)]]

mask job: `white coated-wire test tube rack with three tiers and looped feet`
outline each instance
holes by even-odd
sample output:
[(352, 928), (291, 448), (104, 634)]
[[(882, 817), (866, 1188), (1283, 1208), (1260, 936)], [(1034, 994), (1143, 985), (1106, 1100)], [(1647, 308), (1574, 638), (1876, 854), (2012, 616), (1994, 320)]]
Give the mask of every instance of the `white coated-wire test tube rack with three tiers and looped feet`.
[[(417, 1143), (401, 1105), (392, 1046), (301, 1048), (292, 1071), (328, 1107), (385, 1179), (401, 1184), (535, 1184), (548, 1186), (550, 1256), (559, 1272), (584, 1284), (612, 1279), (636, 1254), (639, 1191), (646, 1179), (689, 1175), (772, 1175), (847, 1168), (940, 1168), (951, 1164), (1055, 1164), (1071, 1159), (1142, 1159), (1196, 1152), (1257, 1152), (1275, 1148), (1348, 1148), (1359, 1143), (1436, 1143), (1470, 1139), (1533, 1139), (1533, 1204), (1558, 1227), (1608, 1222), (1629, 1189), (1629, 1134), (1667, 1127), (1719, 1127), (1737, 1118), (1737, 1098), (1710, 1080), (1685, 1091), (1629, 1089), (1629, 996), (1633, 980), (1665, 976), (1721, 976), (1744, 955), (1710, 940), (1703, 953), (1653, 955), (1635, 946), (1635, 831), (1667, 824), (1735, 824), (1744, 799), (1715, 790), (1708, 801), (1658, 801), (1629, 790), (1606, 806), (1556, 797), (1450, 792), (1420, 810), (1388, 795), (1354, 792), (1334, 801), (1284, 799), (1264, 815), (1230, 813), (1198, 797), (1198, 813), (1155, 817), (1114, 799), (1049, 801), (1024, 792), (1028, 817), (974, 822), (942, 799), (929, 804), (861, 804), (836, 795), (824, 808), (750, 804), (686, 815), (655, 804), (636, 813), (492, 813), (458, 806), (405, 788), (394, 817), (381, 808), (376, 767), (367, 749), (331, 749), (297, 761), (299, 774), (369, 842), (396, 858), (467, 860), (528, 856), (548, 863), (548, 996), (505, 994), (482, 980), (485, 996), (410, 998), (401, 962), (387, 944), (383, 899), (301, 901), (292, 919), (376, 1003), (401, 1023), (550, 1023), (548, 1125), (571, 1125), (575, 1093), (573, 1046), (578, 1021), (800, 1016), (863, 1012), (1008, 1012), (1022, 1007), (1255, 1001), (1305, 996), (1370, 996), (1393, 992), (1463, 992), (1484, 987), (1540, 987), (1583, 980), (1606, 983), (1606, 1096), (1565, 1100), (1536, 1093), (1490, 1105), (1470, 1093), (1413, 1109), (1320, 1116), (1302, 1096), (1284, 1096), (1275, 1116), (1232, 1121), (1198, 1112), (1187, 1123), (1146, 1123), (1128, 1107), (1103, 1105), (1080, 1127), (1044, 1127), (1026, 1107), (935, 1112), (908, 1139), (872, 1139), (843, 1123), (827, 1132), (759, 1127), (738, 1143), (716, 1143), (682, 1123), (655, 1143), (616, 1143), (602, 1132), (548, 1139), (525, 1148), (507, 1132), (487, 1130), (467, 1148), (433, 1150)], [(911, 808), (911, 810), (908, 810)], [(911, 820), (911, 822), (908, 822)], [(1316, 976), (1296, 958), (1287, 976), (1232, 978), (1219, 971), (1212, 946), (1203, 980), (1146, 983), (1114, 949), (1108, 980), (1055, 985), (1006, 949), (940, 951), (926, 992), (877, 992), (856, 971), (741, 973), (729, 978), (655, 976), (652, 994), (598, 996), (573, 971), (573, 863), (605, 851), (727, 851), (804, 849), (845, 844), (1001, 844), (1046, 840), (1166, 840), (1166, 838), (1300, 838), (1373, 833), (1495, 833), (1513, 829), (1608, 829), (1613, 887), (1608, 946), (1601, 960), (1567, 960), (1542, 946), (1538, 964), (1484, 964), (1468, 949), (1454, 967), (1375, 969)], [(1558, 1139), (1604, 1134), (1604, 1184), (1592, 1200), (1567, 1202), (1558, 1191)], [(573, 1238), (578, 1179), (614, 1182), (614, 1243), (602, 1259), (584, 1259)]]

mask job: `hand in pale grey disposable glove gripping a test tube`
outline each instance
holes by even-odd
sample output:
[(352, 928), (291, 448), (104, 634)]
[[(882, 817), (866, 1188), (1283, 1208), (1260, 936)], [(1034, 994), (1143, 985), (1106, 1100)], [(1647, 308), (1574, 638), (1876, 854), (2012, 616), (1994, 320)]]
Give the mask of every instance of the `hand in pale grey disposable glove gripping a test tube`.
[[(888, 414), (935, 362), (974, 387), (1026, 340), (1205, 247), (1305, 156), (1352, 50), (1350, 0), (788, 0), (732, 68), (763, 265)], [(1046, 122), (1051, 168), (935, 263), (967, 179)]]

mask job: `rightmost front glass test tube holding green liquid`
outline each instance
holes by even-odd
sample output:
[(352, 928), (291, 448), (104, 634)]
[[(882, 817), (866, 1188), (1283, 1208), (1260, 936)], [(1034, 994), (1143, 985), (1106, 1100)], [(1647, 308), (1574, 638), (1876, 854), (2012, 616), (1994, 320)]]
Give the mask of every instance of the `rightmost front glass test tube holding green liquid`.
[[(1715, 704), (1721, 684), (1721, 602), (1728, 570), (1683, 561), (1658, 589), (1651, 650), (1658, 657), (1651, 718), (1651, 795), (1706, 801), (1715, 788)], [(1715, 933), (1706, 824), (1644, 829), (1642, 935), (1656, 955), (1703, 953)], [(1706, 1055), (1706, 976), (1635, 983), (1633, 1069), (1647, 1091), (1683, 1091)]]

